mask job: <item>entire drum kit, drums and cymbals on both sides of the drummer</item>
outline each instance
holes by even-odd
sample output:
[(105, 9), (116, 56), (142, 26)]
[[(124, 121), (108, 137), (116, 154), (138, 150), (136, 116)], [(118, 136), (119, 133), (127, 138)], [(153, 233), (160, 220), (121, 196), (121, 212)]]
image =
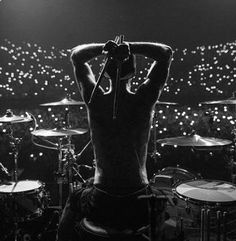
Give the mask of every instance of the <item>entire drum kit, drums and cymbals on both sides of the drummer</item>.
[[(234, 104), (236, 99), (227, 99), (222, 101), (203, 102), (202, 104)], [(72, 136), (83, 135), (87, 133), (83, 128), (71, 128), (70, 125), (70, 106), (84, 105), (84, 102), (76, 101), (67, 96), (57, 101), (41, 104), (43, 107), (67, 107), (65, 109), (65, 118), (60, 125), (54, 129), (37, 129), (36, 118), (29, 113), (25, 116), (14, 115), (11, 110), (7, 110), (3, 117), (0, 117), (0, 123), (6, 125), (6, 135), (9, 138), (12, 147), (14, 160), (13, 174), (0, 163), (1, 172), (5, 174), (6, 179), (0, 182), (0, 207), (1, 216), (5, 223), (14, 224), (14, 240), (19, 238), (19, 224), (34, 220), (43, 215), (49, 205), (50, 195), (45, 190), (45, 184), (38, 180), (18, 180), (18, 154), (21, 143), (20, 138), (14, 137), (13, 126), (22, 123), (34, 122), (34, 130), (31, 131), (32, 142), (36, 146), (56, 150), (58, 152), (57, 184), (59, 191), (59, 210), (63, 206), (63, 188), (62, 185), (68, 185), (68, 192), (72, 192), (77, 185), (85, 183), (80, 173), (80, 165), (77, 157), (90, 145), (89, 141), (82, 151), (76, 155), (75, 146), (72, 144)], [(171, 102), (160, 102), (156, 105), (176, 105)], [(156, 122), (156, 113), (153, 121)], [(214, 137), (202, 137), (196, 133), (186, 136), (177, 136), (164, 139), (156, 139), (156, 128), (154, 131), (154, 152), (157, 151), (157, 145), (193, 147), (193, 148), (211, 148), (224, 147), (232, 144), (232, 141)], [(51, 141), (50, 138), (54, 138)], [(56, 141), (55, 141), (56, 139)], [(236, 139), (236, 138), (235, 138)], [(40, 142), (39, 142), (40, 141)], [(41, 144), (43, 142), (44, 144)], [(235, 147), (235, 140), (233, 141)], [(234, 152), (235, 156), (235, 152)], [(234, 164), (235, 160), (232, 160)], [(232, 181), (233, 176), (232, 173)], [(11, 176), (11, 181), (9, 177)], [(7, 179), (8, 178), (8, 179)], [(1, 176), (0, 176), (1, 179)], [(175, 219), (175, 225), (184, 230), (187, 235), (193, 234), (193, 230), (198, 230), (197, 238), (185, 238), (182, 240), (210, 241), (213, 240), (232, 241), (228, 235), (229, 217), (235, 219), (236, 210), (236, 186), (232, 182), (221, 180), (204, 179), (200, 175), (195, 175), (186, 169), (179, 167), (165, 167), (158, 173), (155, 173), (150, 180), (151, 186), (158, 190), (163, 190), (169, 198), (167, 212), (169, 220)], [(168, 221), (168, 220), (167, 220)], [(231, 226), (232, 227), (232, 224)], [(181, 231), (181, 232), (182, 232)], [(232, 231), (232, 230), (231, 230)], [(235, 230), (233, 230), (235, 232)], [(8, 240), (8, 236), (3, 240)], [(40, 239), (38, 239), (40, 240)], [(167, 239), (168, 240), (168, 239)]]

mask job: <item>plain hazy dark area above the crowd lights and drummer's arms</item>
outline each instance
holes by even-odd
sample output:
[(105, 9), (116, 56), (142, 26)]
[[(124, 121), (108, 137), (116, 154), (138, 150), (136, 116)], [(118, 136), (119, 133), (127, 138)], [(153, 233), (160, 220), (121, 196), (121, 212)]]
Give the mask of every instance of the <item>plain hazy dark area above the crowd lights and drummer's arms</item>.
[(1, 38), (71, 48), (106, 41), (161, 41), (174, 48), (236, 39), (234, 0), (2, 0)]

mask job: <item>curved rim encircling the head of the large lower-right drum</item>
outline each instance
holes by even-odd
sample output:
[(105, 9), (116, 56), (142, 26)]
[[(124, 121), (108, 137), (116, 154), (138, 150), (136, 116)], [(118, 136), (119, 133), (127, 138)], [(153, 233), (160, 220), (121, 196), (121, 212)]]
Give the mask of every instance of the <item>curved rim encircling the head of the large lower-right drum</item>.
[[(195, 198), (191, 198), (191, 197), (187, 197), (183, 194), (180, 194), (179, 192), (177, 192), (176, 188), (182, 184), (186, 184), (188, 182), (193, 182), (193, 181), (219, 181), (219, 182), (224, 182), (226, 184), (230, 184), (233, 185), (233, 183), (231, 182), (227, 182), (227, 181), (223, 181), (223, 180), (217, 180), (217, 179), (195, 179), (195, 180), (187, 180), (184, 182), (181, 182), (179, 185), (175, 186), (174, 188), (172, 188), (172, 192), (174, 193), (174, 195), (176, 195), (177, 197), (179, 197), (180, 199), (184, 200), (185, 202), (189, 202), (191, 204), (195, 204), (198, 206), (215, 206), (215, 207), (226, 207), (226, 206), (232, 206), (232, 204), (236, 204), (236, 200), (235, 201), (206, 201), (206, 200), (199, 200), (199, 199), (195, 199)], [(235, 185), (236, 187), (236, 185)]]

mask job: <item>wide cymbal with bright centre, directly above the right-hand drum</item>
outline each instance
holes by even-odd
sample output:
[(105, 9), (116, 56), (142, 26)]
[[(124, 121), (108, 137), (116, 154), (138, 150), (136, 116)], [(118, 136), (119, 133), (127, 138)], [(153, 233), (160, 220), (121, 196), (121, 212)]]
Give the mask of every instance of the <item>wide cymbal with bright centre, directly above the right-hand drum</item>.
[(197, 134), (190, 136), (178, 136), (157, 140), (158, 143), (170, 146), (196, 146), (196, 147), (213, 147), (225, 146), (232, 143), (230, 140), (223, 140), (213, 137), (201, 137)]

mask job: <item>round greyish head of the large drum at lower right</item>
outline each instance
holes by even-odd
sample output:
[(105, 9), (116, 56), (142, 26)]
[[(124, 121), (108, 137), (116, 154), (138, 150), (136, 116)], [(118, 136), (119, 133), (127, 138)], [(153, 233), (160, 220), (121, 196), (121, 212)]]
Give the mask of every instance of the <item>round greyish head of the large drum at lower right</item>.
[(184, 182), (175, 189), (177, 195), (190, 201), (228, 204), (236, 202), (236, 186), (220, 180)]

